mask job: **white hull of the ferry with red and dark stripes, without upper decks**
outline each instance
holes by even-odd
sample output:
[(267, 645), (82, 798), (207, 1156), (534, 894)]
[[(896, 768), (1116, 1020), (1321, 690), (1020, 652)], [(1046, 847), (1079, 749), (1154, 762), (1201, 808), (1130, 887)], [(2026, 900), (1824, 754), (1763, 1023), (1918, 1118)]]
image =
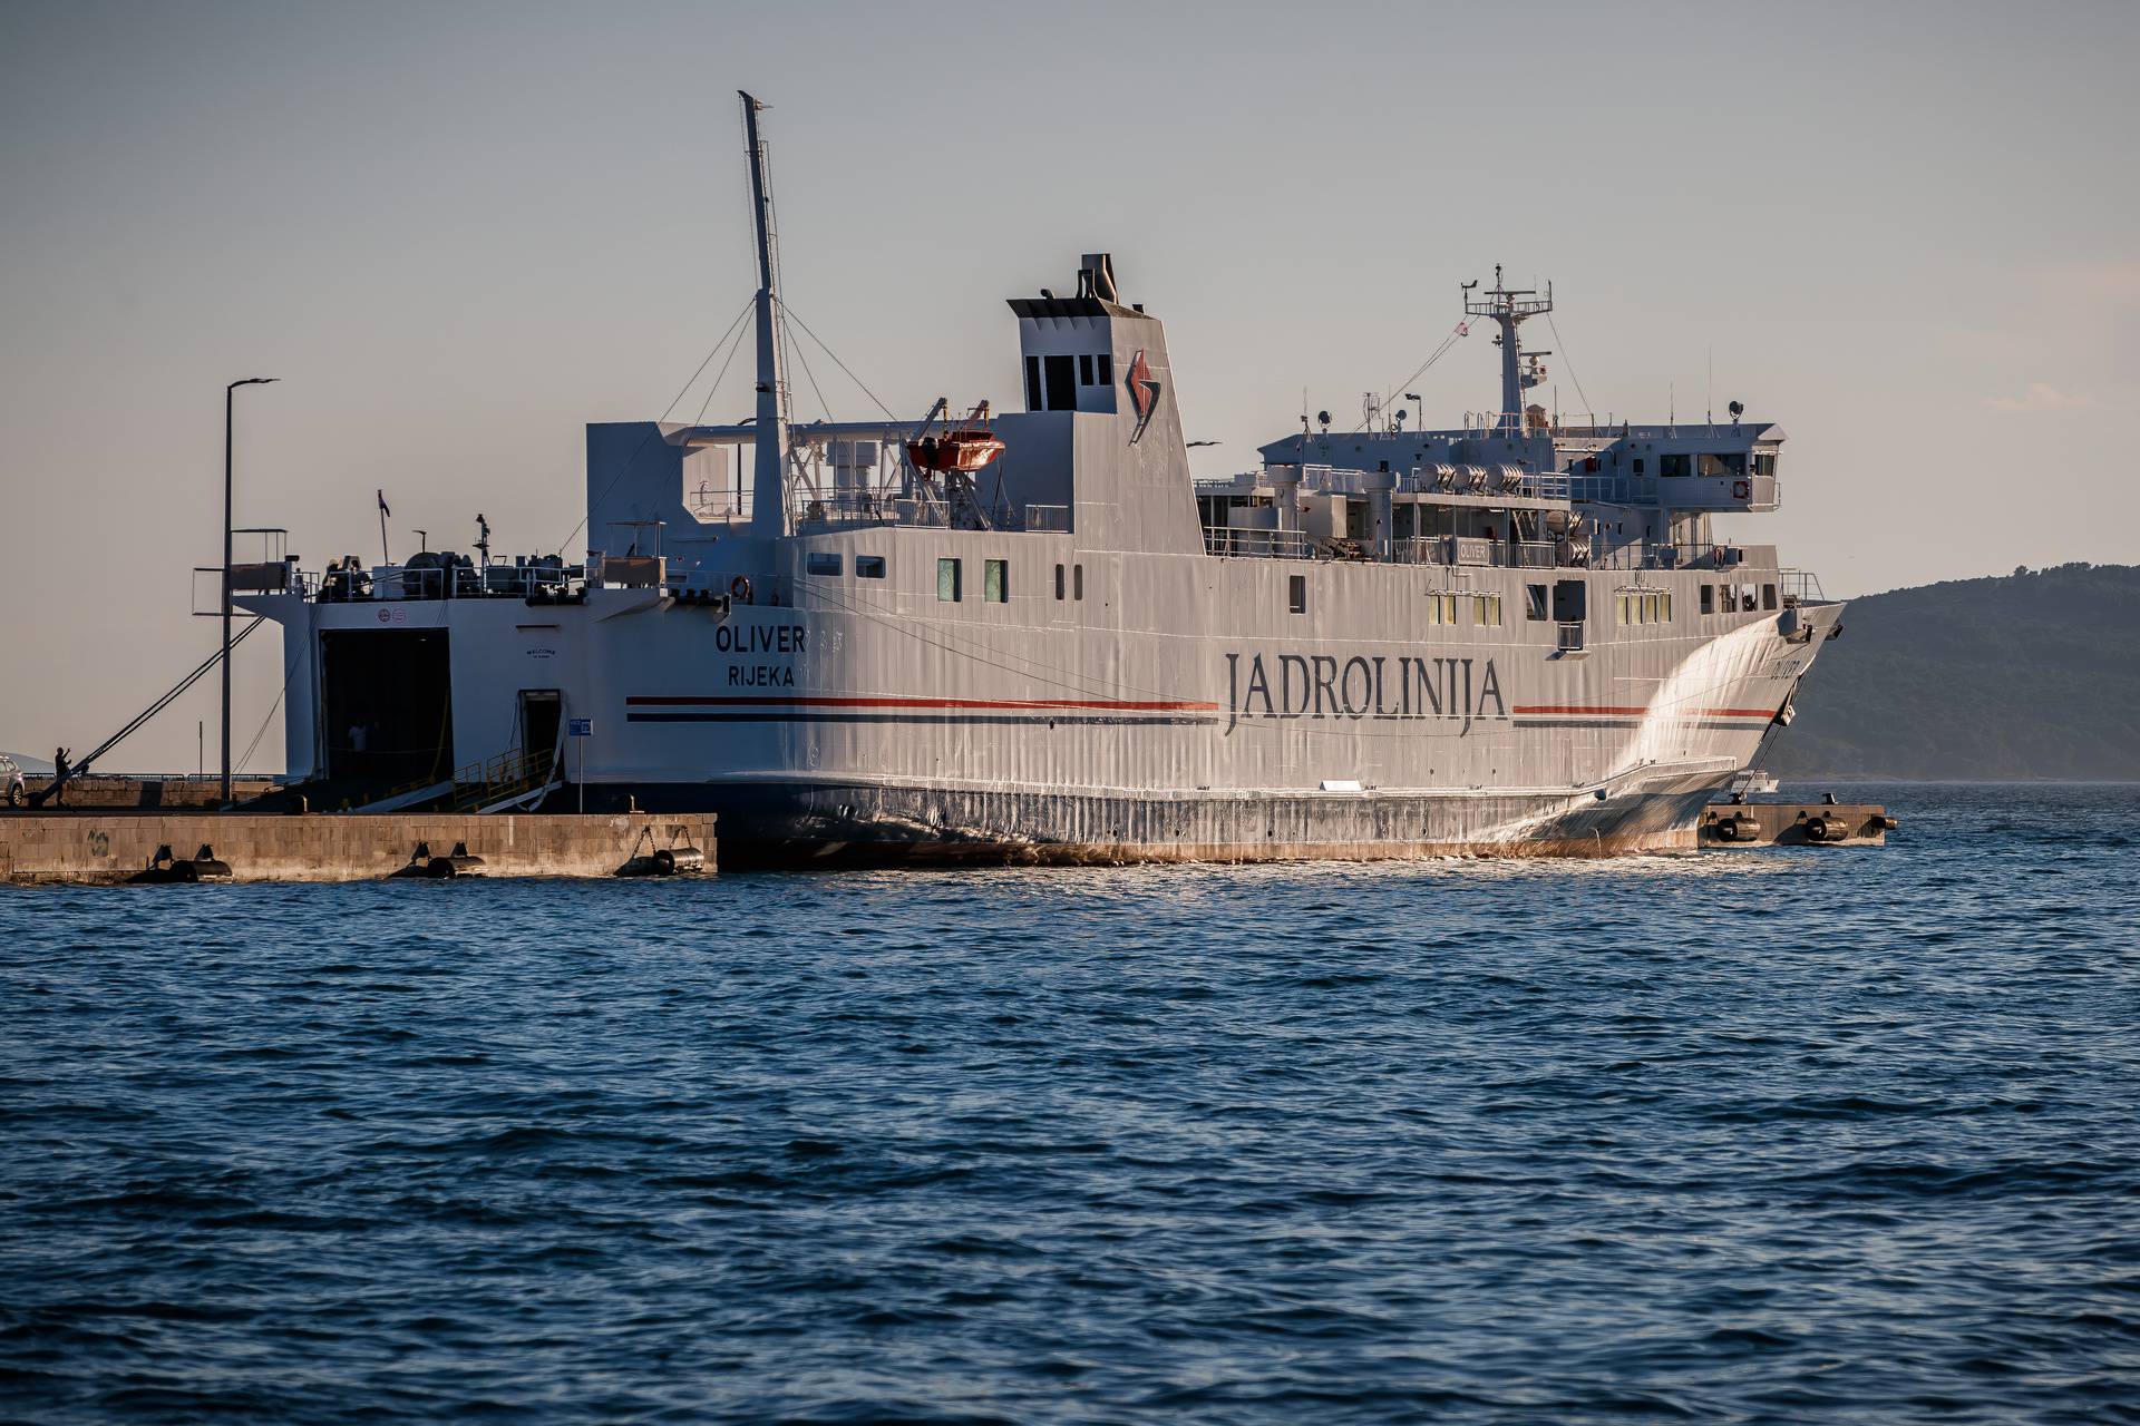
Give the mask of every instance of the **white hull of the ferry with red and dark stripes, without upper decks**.
[[(1684, 614), (1710, 575), (1652, 571), (1669, 624), (1603, 618), (1564, 650), (1558, 622), (1526, 618), (1526, 582), (1579, 577), (1611, 609), (1626, 575), (1102, 554), (987, 530), (785, 545), (792, 569), (753, 590), (779, 607), (631, 588), (563, 605), (265, 601), (297, 616), (291, 763), (336, 742), (319, 635), (439, 631), (456, 759), (526, 744), (524, 697), (554, 693), (561, 727), (588, 720), (561, 740), (561, 804), (584, 789), (588, 810), (713, 810), (738, 859), (1676, 849), (1840, 614)], [(841, 573), (802, 573), (811, 554)], [(856, 556), (886, 577), (856, 579)], [(1004, 560), (1008, 596), (937, 599), (942, 558)], [(1083, 601), (1068, 579), (1053, 596), (1055, 564), (1083, 567)], [(1290, 614), (1293, 575), (1314, 616)], [(1425, 624), (1444, 592), (1457, 622)], [(1500, 624), (1474, 618), (1481, 596)], [(1312, 633), (1331, 626), (1348, 637)]]

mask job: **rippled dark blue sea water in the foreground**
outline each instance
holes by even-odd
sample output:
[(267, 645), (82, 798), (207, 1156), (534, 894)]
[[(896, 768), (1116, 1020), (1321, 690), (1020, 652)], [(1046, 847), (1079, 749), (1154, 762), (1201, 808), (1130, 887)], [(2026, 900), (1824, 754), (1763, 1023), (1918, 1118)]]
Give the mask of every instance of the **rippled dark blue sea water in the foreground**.
[(0, 889), (0, 1415), (2140, 1420), (2140, 789)]

